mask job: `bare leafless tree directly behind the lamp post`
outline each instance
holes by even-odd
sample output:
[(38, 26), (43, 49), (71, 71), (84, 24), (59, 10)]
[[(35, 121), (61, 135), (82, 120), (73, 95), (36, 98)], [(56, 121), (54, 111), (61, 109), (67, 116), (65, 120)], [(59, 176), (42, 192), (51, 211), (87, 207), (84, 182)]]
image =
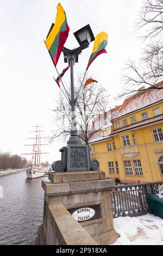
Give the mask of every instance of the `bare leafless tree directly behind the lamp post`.
[[(82, 83), (82, 77), (83, 75), (81, 74), (78, 74), (77, 76), (75, 89), (76, 96), (78, 95)], [(92, 76), (87, 78), (90, 77)], [(89, 133), (95, 116), (105, 112), (105, 109), (108, 106), (108, 99), (108, 92), (99, 83), (90, 84), (80, 91), (76, 104), (76, 121), (78, 126), (78, 136), (84, 143), (87, 144), (91, 136), (97, 131), (93, 130)], [(54, 113), (56, 129), (52, 131), (52, 136), (49, 139), (51, 142), (58, 137), (66, 139), (70, 135), (71, 129), (71, 107), (61, 93), (59, 93), (57, 107), (52, 109), (52, 111)]]

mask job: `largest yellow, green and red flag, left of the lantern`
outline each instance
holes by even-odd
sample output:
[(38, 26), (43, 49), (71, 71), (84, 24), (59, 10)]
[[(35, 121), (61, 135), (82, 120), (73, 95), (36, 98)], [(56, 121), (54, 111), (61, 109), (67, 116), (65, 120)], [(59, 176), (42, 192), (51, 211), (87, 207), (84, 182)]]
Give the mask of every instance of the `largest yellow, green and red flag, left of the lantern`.
[(67, 40), (69, 30), (70, 28), (67, 25), (65, 11), (59, 3), (57, 6), (55, 24), (52, 24), (45, 41), (54, 66), (56, 66), (58, 63), (62, 48)]

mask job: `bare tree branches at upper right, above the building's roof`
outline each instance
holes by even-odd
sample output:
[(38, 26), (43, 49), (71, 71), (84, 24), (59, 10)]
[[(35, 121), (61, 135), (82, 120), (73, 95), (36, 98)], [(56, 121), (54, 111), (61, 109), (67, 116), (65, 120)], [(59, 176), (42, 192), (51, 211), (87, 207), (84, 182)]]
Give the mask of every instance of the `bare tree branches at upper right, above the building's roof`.
[(139, 86), (163, 88), (163, 83), (161, 87), (155, 87), (157, 82), (163, 80), (163, 0), (146, 0), (136, 26), (138, 31), (143, 32), (140, 38), (146, 42), (146, 46), (139, 63), (134, 60), (126, 63), (126, 74), (123, 76), (126, 87), (122, 95), (139, 92)]

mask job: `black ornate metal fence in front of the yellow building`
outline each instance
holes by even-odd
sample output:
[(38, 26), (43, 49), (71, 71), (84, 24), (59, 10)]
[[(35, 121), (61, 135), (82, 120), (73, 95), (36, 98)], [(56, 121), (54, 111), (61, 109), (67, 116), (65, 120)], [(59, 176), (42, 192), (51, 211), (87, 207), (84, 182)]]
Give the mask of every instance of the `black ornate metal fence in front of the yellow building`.
[(140, 216), (152, 213), (148, 194), (157, 194), (163, 181), (115, 186), (111, 190), (113, 217)]

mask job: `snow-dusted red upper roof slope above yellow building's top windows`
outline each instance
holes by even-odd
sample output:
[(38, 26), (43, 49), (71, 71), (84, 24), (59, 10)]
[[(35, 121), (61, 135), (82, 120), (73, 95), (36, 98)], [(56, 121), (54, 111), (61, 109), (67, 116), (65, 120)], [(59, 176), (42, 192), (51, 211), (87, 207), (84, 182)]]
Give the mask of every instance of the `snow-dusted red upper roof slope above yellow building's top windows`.
[[(163, 81), (155, 84), (154, 87), (163, 87)], [(111, 120), (120, 118), (123, 115), (137, 111), (161, 100), (163, 100), (163, 89), (154, 89), (153, 87), (149, 87), (146, 90), (140, 90), (139, 93), (136, 93), (124, 100), (122, 105), (111, 109)]]

